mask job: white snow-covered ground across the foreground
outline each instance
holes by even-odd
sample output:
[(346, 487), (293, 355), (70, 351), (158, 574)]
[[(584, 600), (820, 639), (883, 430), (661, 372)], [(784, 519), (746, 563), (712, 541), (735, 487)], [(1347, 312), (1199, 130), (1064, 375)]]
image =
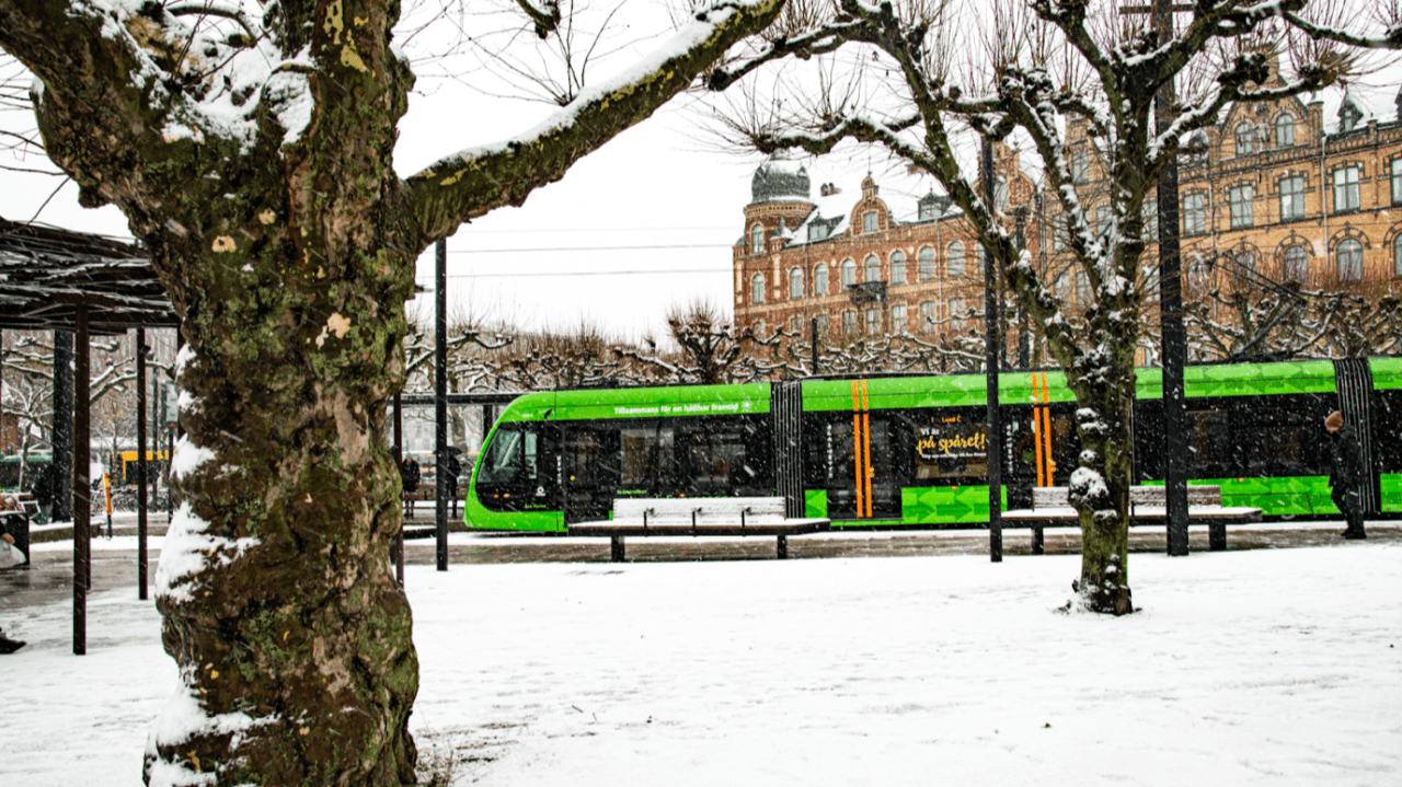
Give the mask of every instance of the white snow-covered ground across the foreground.
[[(1402, 546), (411, 566), (414, 728), (457, 784), (1402, 784)], [(0, 784), (135, 786), (174, 689), (133, 592), (0, 620)]]

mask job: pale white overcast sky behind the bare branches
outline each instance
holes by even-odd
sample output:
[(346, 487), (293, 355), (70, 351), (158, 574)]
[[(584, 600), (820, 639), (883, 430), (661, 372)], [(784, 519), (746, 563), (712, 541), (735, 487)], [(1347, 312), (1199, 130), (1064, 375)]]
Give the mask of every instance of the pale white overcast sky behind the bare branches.
[[(667, 29), (656, 4), (635, 3), (625, 10), (634, 15), (617, 28), (620, 38), (608, 42), (618, 52), (593, 77), (627, 67), (639, 50), (656, 46)], [(509, 6), (502, 15), (486, 14), (482, 22), (496, 29), (506, 24), (524, 28)], [(437, 22), (429, 29), (433, 35), (450, 25)], [(639, 41), (642, 32), (651, 32), (651, 38)], [(426, 39), (407, 43), (411, 57), (437, 46)], [(491, 69), (461, 63), (426, 60), (416, 66), (423, 76), (411, 95), (395, 150), (401, 175), (456, 150), (520, 134), (551, 112), (547, 104), (470, 90), (468, 81), (495, 85), (492, 92), (512, 92), (492, 81)], [(442, 78), (449, 70), (470, 74), (464, 80)], [(1377, 80), (1361, 92), (1371, 109), (1391, 119), (1396, 80)], [(526, 329), (572, 329), (589, 322), (621, 337), (663, 333), (667, 308), (693, 297), (709, 298), (728, 314), (729, 246), (743, 232), (750, 175), (758, 161), (721, 153), (714, 141), (698, 139), (700, 113), (688, 108), (694, 104), (691, 97), (674, 99), (651, 120), (580, 160), (561, 182), (537, 189), (523, 207), (501, 209), (464, 225), (447, 242), (450, 312)], [(1336, 101), (1326, 104), (1326, 122), (1333, 122), (1336, 108)], [(0, 127), (32, 127), (32, 118), (17, 115), (0, 115)], [(6, 157), (0, 164), (14, 162)], [(45, 165), (32, 160), (20, 164)], [(907, 217), (917, 196), (930, 188), (927, 181), (896, 176), (880, 154), (869, 153), (810, 164), (813, 188), (834, 181), (844, 190), (855, 190), (868, 167), (897, 218)], [(116, 209), (80, 209), (72, 182), (41, 211), (57, 182), (53, 176), (0, 169), (0, 216), (27, 221), (38, 214), (46, 224), (129, 235)], [(432, 251), (419, 259), (418, 281), (425, 290), (433, 287)], [(419, 301), (426, 314), (432, 297)]]

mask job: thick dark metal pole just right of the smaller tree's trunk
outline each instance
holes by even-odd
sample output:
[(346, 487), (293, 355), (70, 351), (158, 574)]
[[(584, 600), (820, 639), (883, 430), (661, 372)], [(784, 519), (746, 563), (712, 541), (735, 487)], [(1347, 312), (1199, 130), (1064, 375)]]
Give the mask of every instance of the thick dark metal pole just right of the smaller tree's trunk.
[[(1154, 0), (1154, 25), (1159, 43), (1173, 36), (1172, 0)], [(1173, 122), (1173, 81), (1154, 98), (1158, 133)], [(1168, 553), (1187, 555), (1187, 413), (1183, 401), (1183, 365), (1187, 336), (1183, 332), (1183, 277), (1178, 244), (1178, 161), (1172, 158), (1158, 176), (1158, 312), (1164, 336), (1164, 486), (1168, 514)]]

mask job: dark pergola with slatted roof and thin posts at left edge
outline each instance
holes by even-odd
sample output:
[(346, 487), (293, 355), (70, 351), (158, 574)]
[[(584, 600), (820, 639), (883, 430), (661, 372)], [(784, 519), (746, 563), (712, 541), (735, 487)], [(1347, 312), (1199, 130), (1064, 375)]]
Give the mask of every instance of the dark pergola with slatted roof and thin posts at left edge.
[[(0, 218), (0, 330), (73, 332), (73, 653), (87, 653), (87, 591), (91, 585), (88, 478), (90, 337), (136, 329), (136, 441), (139, 445), (137, 574), (146, 598), (146, 329), (177, 328), (179, 319), (142, 249), (102, 238)], [(57, 344), (55, 342), (57, 354)], [(62, 402), (57, 402), (57, 412)], [(66, 406), (63, 406), (66, 409)], [(59, 437), (59, 436), (55, 436)]]

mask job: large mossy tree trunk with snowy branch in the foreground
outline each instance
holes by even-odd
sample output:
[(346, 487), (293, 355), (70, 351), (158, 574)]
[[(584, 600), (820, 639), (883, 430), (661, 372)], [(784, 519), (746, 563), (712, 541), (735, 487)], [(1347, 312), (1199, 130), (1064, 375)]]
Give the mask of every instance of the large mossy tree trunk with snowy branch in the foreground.
[[(520, 0), (536, 31), (554, 0)], [(782, 0), (697, 7), (548, 122), (401, 176), (414, 74), (394, 0), (0, 0), (43, 148), (111, 203), (181, 316), (188, 503), (157, 573), (182, 690), (150, 784), (415, 781), (411, 616), (388, 563), (421, 251), (648, 118)]]

